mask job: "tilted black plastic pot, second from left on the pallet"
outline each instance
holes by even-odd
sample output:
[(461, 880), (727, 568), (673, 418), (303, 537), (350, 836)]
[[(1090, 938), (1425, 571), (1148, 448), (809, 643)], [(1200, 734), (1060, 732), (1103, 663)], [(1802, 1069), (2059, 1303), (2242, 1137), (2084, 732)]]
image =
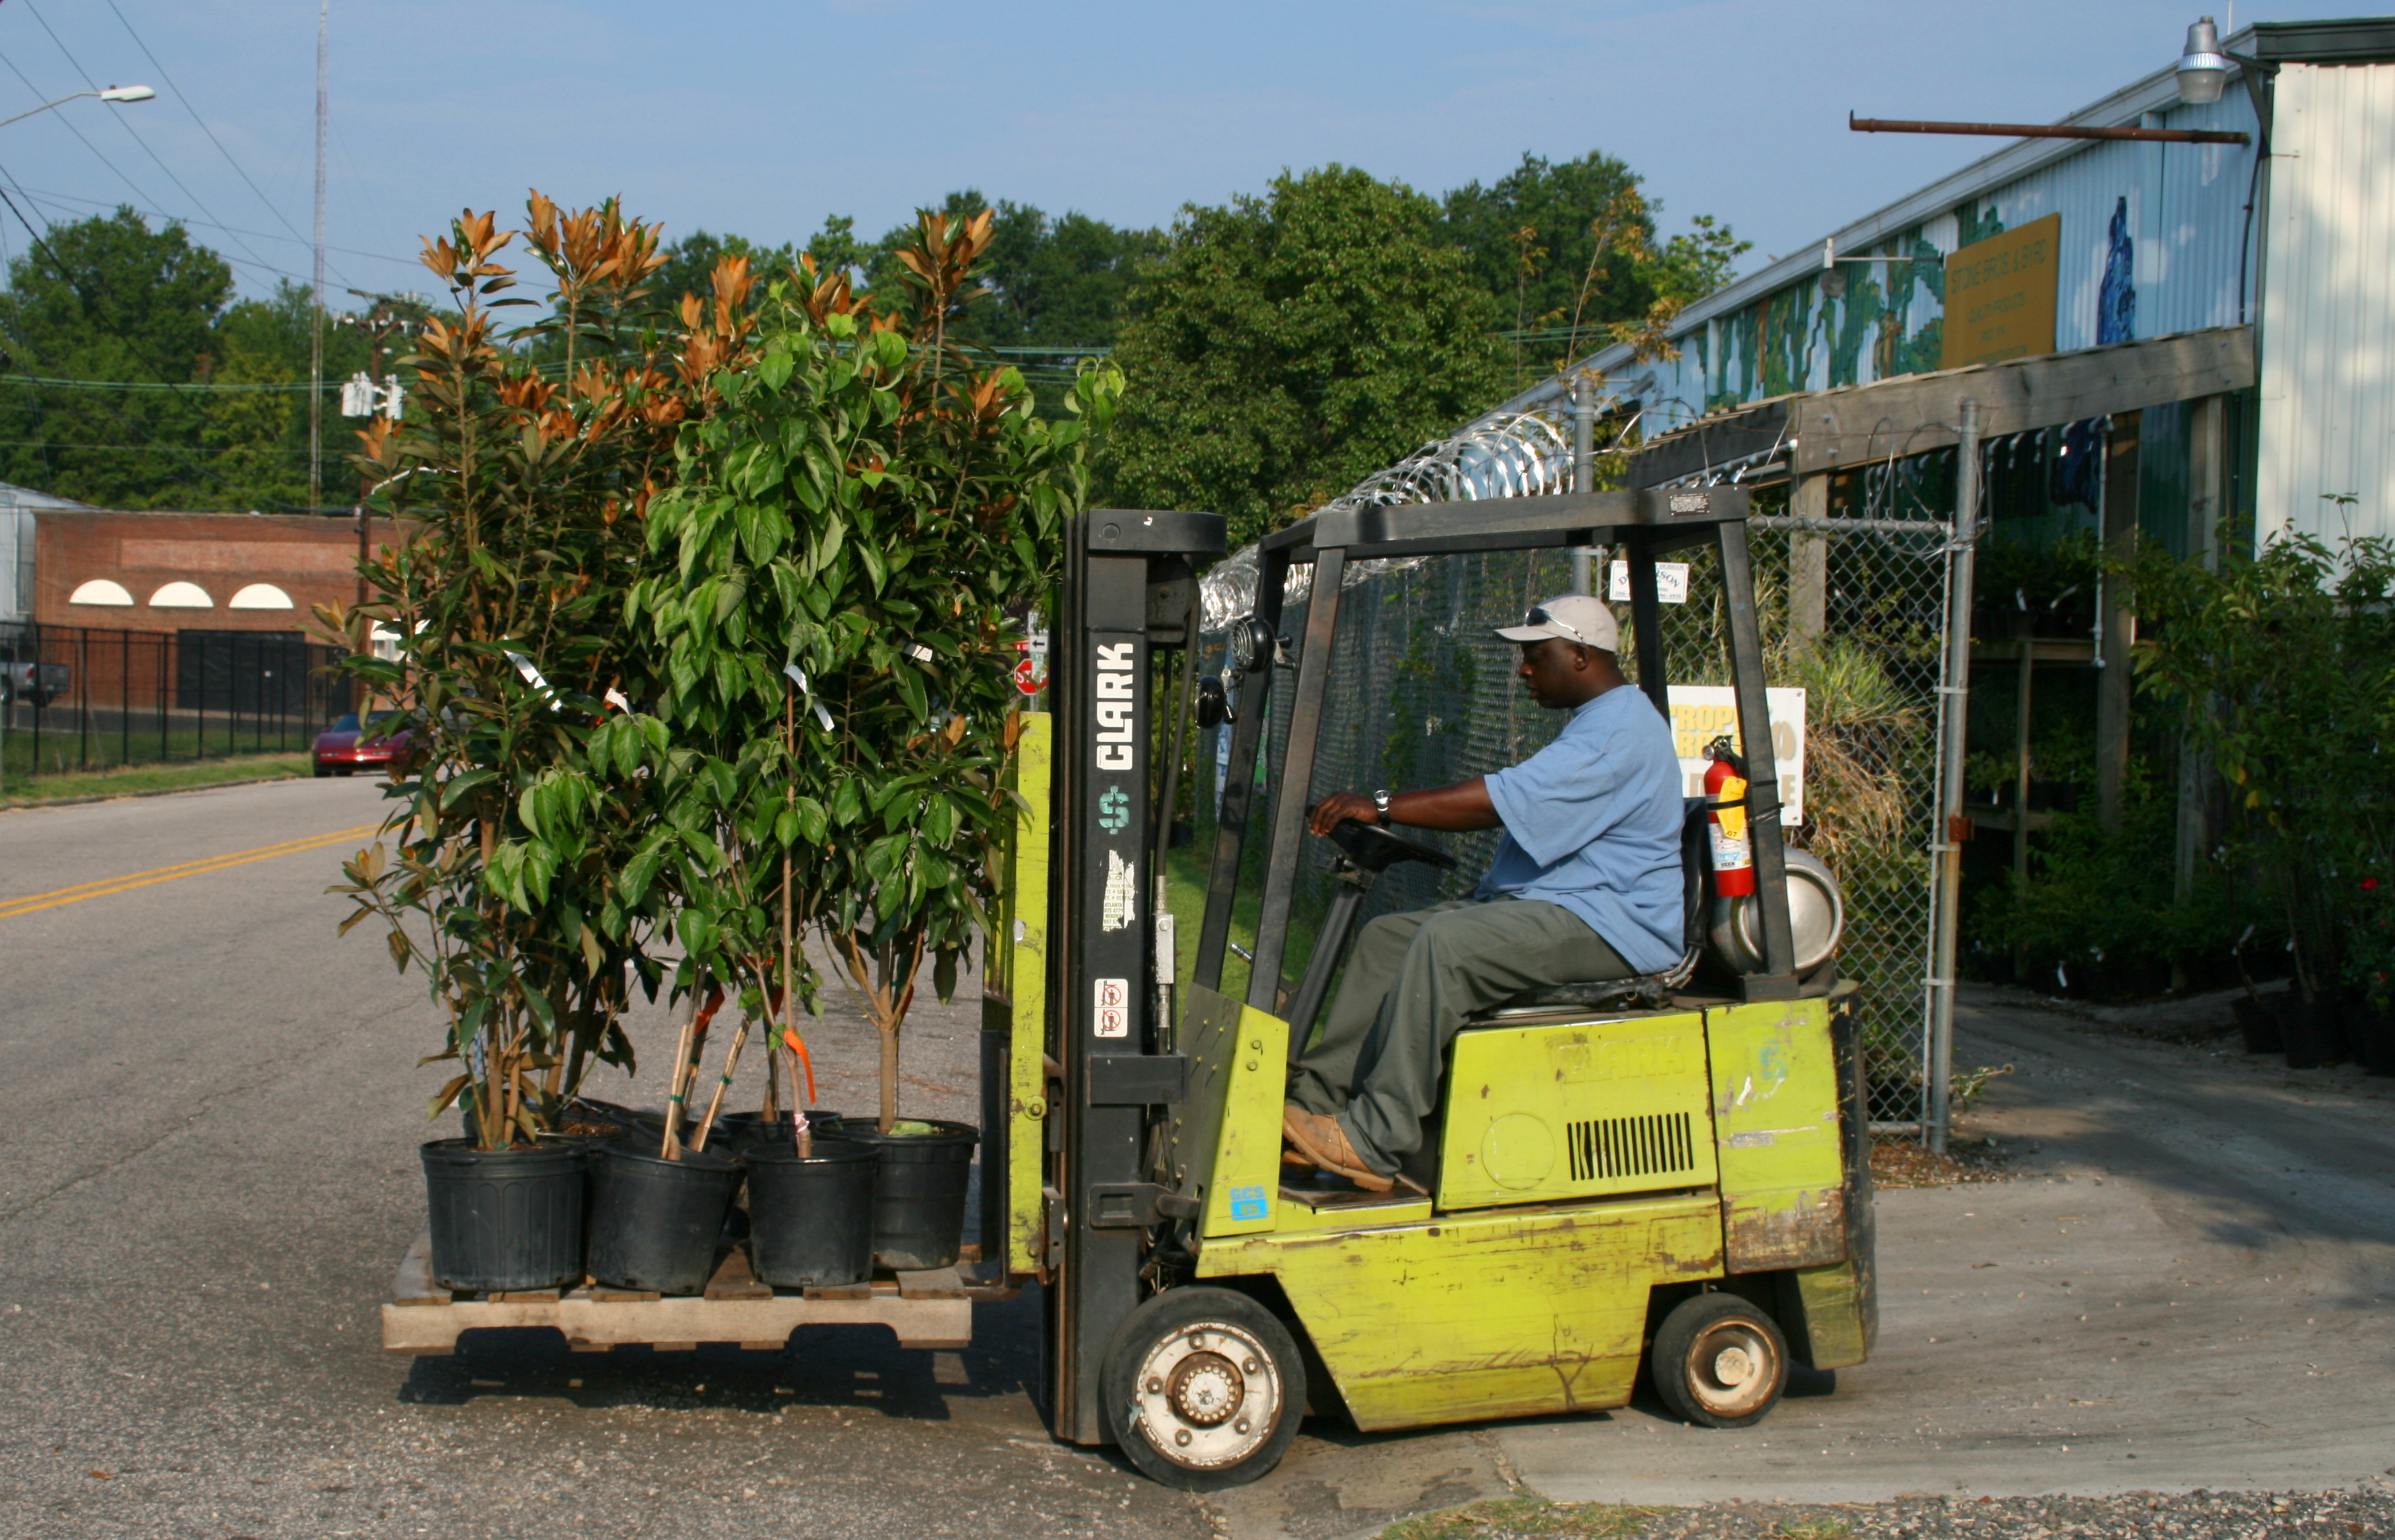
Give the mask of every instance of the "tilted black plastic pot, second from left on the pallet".
[(707, 1150), (666, 1159), (647, 1142), (599, 1145), (592, 1164), (592, 1277), (613, 1289), (697, 1293), (716, 1269), (740, 1162)]

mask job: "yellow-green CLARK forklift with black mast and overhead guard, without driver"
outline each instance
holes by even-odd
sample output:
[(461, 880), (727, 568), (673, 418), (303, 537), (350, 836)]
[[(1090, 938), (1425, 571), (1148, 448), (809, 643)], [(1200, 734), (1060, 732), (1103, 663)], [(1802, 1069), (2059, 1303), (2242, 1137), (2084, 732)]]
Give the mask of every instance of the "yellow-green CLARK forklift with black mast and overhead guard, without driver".
[[(1736, 489), (1322, 513), (1262, 541), (1255, 613), (1231, 627), (1229, 675), (1205, 680), (1195, 568), (1224, 553), (1224, 520), (1092, 510), (1071, 525), (1051, 711), (1018, 723), (1023, 802), (982, 1032), (984, 1269), (1044, 1286), (1056, 1437), (1219, 1490), (1272, 1471), (1308, 1411), (1372, 1432), (1605, 1411), (1645, 1365), (1679, 1415), (1741, 1427), (1791, 1363), (1870, 1353), (1870, 1135), (1851, 984), (1830, 958), (1837, 889), (1782, 848), (1770, 752), (1751, 757), (1746, 790), (1753, 896), (1710, 893), (1691, 802), (1676, 968), (1468, 1020), (1391, 1193), (1281, 1164), (1289, 1061), (1365, 891), (1396, 862), (1454, 865), (1344, 824), (1339, 896), (1305, 977), (1284, 984), (1300, 862), (1327, 855), (1305, 802), (1348, 565), (1612, 546), (1629, 563), (1636, 683), (1669, 714), (1655, 558), (1712, 546), (1739, 733), (1770, 745), (1746, 515)], [(1312, 582), (1289, 637), (1296, 568)], [(1289, 733), (1267, 821), (1255, 766), (1277, 690)], [(1205, 922), (1181, 975), (1162, 881), (1176, 771), (1188, 730), (1224, 721)], [(1260, 893), (1243, 893), (1257, 867)], [(1245, 999), (1229, 999), (1243, 901), (1260, 917)]]

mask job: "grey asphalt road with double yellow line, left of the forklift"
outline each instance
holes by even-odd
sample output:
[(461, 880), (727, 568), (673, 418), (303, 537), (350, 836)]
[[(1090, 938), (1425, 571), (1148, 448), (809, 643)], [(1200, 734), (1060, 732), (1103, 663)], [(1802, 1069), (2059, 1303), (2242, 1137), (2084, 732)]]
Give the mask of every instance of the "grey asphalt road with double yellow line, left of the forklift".
[[(0, 1535), (1212, 1533), (1047, 1439), (1030, 1298), (965, 1353), (386, 1358), (438, 1030), (371, 927), (333, 936), (357, 841), (307, 848), (376, 817), (362, 778), (0, 814)], [(22, 905), (120, 874), (151, 879)], [(917, 1013), (908, 1109), (970, 1116), (975, 1011)], [(869, 1032), (817, 1066), (869, 1107)]]

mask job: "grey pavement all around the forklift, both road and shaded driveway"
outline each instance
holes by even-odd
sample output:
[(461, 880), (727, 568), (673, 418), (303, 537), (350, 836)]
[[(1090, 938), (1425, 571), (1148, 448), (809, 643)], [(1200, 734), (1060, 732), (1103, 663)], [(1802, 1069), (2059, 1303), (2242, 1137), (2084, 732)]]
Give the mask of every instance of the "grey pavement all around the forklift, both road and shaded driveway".
[[(422, 1221), (436, 1027), (321, 893), (376, 812), (369, 781), (292, 781), (0, 814), (0, 1535), (1332, 1540), (1516, 1485), (1873, 1502), (2395, 1466), (2395, 1083), (1995, 1004), (1962, 1049), (2019, 1066), (1978, 1126), (2036, 1145), (2024, 1174), (1882, 1193), (1878, 1358), (1748, 1432), (1645, 1403), (1315, 1423), (1198, 1504), (1047, 1439), (1030, 1298), (965, 1353), (522, 1334), (390, 1360), (376, 1303)], [(970, 1116), (975, 1011), (917, 1011), (908, 1109)], [(654, 1099), (661, 1013), (635, 1037), (627, 1099)], [(869, 1107), (872, 1063), (829, 1023), (819, 1102)]]

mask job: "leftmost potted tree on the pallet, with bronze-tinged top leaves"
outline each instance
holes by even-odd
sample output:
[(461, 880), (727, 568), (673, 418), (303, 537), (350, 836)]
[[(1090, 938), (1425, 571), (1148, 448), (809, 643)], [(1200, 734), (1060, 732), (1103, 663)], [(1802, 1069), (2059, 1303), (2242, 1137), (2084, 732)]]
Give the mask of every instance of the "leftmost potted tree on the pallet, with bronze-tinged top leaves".
[[(673, 433), (704, 410), (711, 359), (663, 354), (644, 278), (656, 230), (608, 204), (572, 216), (534, 194), (548, 311), (501, 335), (515, 237), (467, 213), (426, 242), (453, 314), (424, 326), (412, 412), (362, 433), (359, 474), (414, 539), (366, 565), (364, 616), (395, 659), (347, 668), (407, 719), (378, 843), (345, 865), (342, 932), (386, 927), (443, 1011), (426, 1063), (455, 1073), (431, 1116), (467, 1135), (424, 1145), (433, 1277), (541, 1289), (582, 1277), (587, 1162), (551, 1138), (594, 1061), (630, 1066), (632, 982), (663, 889), (654, 776), (663, 726), (644, 651), (616, 623), (642, 556), (642, 510), (671, 477)], [(697, 347), (704, 354), (704, 345)], [(563, 364), (563, 378), (551, 378)]]

